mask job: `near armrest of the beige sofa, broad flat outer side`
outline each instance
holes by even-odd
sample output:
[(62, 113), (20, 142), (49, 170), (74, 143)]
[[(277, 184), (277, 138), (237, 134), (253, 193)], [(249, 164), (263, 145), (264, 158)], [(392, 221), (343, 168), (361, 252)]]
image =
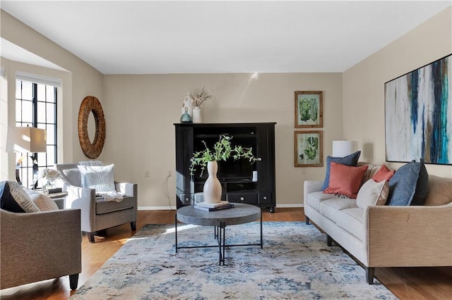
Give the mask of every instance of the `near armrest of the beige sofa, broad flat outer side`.
[(366, 218), (368, 266), (452, 266), (452, 203), (371, 206)]

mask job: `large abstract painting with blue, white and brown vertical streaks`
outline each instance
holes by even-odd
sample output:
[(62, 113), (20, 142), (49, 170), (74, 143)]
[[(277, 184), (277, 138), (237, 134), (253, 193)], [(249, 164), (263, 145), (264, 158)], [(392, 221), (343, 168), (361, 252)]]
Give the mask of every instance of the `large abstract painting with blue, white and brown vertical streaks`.
[(388, 81), (386, 161), (452, 164), (452, 54)]

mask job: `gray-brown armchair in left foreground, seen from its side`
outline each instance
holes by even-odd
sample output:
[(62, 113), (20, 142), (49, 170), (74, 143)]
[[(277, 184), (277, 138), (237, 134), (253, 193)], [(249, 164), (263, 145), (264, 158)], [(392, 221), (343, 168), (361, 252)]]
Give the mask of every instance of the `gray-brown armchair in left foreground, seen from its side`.
[(82, 270), (80, 210), (11, 213), (0, 209), (0, 287), (69, 275), (76, 289)]

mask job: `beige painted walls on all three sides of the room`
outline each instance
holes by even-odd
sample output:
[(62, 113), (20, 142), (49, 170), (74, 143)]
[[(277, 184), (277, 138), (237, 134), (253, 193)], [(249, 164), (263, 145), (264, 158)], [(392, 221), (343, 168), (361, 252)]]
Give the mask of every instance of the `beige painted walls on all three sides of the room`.
[[(359, 142), (363, 160), (383, 163), (384, 82), (452, 52), (452, 17), (448, 9), (343, 74), (260, 74), (257, 79), (251, 79), (251, 74), (102, 75), (11, 15), (0, 13), (1, 37), (68, 70), (63, 78), (67, 92), (63, 99), (62, 162), (86, 159), (78, 142), (78, 108), (85, 96), (97, 96), (107, 123), (100, 159), (115, 164), (117, 180), (138, 183), (141, 208), (175, 205), (173, 123), (179, 122), (182, 99), (190, 89), (196, 92), (205, 85), (216, 96), (203, 108), (206, 123), (278, 123), (277, 206), (301, 205), (303, 181), (323, 180), (325, 167), (294, 167), (294, 92), (323, 91), (323, 128), (319, 128), (323, 130), (323, 161), (331, 154), (331, 141), (346, 138)], [(41, 75), (50, 72), (20, 63), (12, 66), (10, 69), (27, 69)], [(6, 84), (0, 83), (1, 87)], [(4, 94), (0, 96), (3, 109)], [(427, 168), (431, 174), (452, 177), (451, 166)], [(150, 172), (149, 178), (144, 176), (146, 171)], [(167, 171), (172, 173), (168, 182)]]

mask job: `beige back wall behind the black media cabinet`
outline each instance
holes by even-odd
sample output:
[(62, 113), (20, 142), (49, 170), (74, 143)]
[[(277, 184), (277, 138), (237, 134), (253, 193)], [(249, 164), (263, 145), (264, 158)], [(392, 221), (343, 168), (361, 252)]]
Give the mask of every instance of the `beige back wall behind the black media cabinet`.
[[(304, 180), (323, 179), (325, 168), (294, 167), (295, 91), (323, 91), (323, 153), (342, 138), (340, 73), (105, 75), (107, 139), (104, 161), (115, 177), (138, 183), (139, 206), (175, 206), (174, 125), (186, 92), (206, 86), (215, 101), (203, 123), (276, 122), (277, 206), (301, 206)], [(165, 182), (167, 171), (172, 172)], [(150, 177), (145, 178), (146, 171)], [(165, 196), (169, 191), (169, 199)]]

